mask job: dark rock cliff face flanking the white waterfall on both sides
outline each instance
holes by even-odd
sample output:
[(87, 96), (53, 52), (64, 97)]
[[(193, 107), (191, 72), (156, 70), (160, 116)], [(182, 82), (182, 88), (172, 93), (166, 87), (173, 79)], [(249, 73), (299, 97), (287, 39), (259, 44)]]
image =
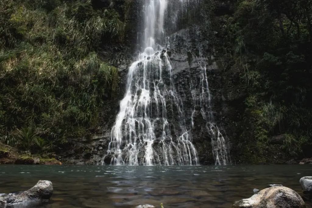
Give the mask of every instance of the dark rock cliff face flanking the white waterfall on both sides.
[[(200, 108), (195, 107), (190, 83), (200, 87), (202, 66), (207, 69), (207, 81), (212, 96), (211, 110), (213, 122), (218, 126), (220, 133), (227, 142), (228, 152), (232, 163), (250, 162), (245, 152), (253, 154), (252, 148), (244, 143), (254, 137), (252, 129), (255, 127), (246, 118), (244, 100), (247, 97), (246, 89), (241, 84), (239, 73), (233, 68), (233, 60), (227, 54), (223, 36), (220, 34), (222, 18), (232, 15), (233, 4), (229, 1), (209, 1), (197, 11), (190, 12), (177, 25), (177, 31), (170, 35), (170, 61), (173, 65), (173, 79), (175, 88), (183, 102), (186, 127), (195, 145), (200, 164), (214, 164), (211, 135), (207, 131), (207, 122), (203, 119)], [(84, 138), (71, 138), (69, 143), (60, 148), (62, 162), (78, 164), (107, 164), (105, 161), (110, 131), (119, 112), (119, 101), (125, 93), (126, 78), (129, 65), (133, 62), (138, 51), (136, 44), (138, 33), (142, 28), (142, 18), (139, 12), (142, 1), (135, 1), (131, 9), (131, 21), (128, 28), (128, 41), (125, 45), (106, 46), (99, 51), (103, 59), (119, 68), (120, 84), (118, 96), (115, 100), (106, 101), (100, 115), (97, 128), (90, 130), (90, 135)], [(229, 46), (230, 47), (230, 46)], [(192, 127), (192, 113), (193, 123)], [(175, 115), (168, 115), (168, 119), (175, 123)], [(239, 141), (239, 142), (237, 142)], [(277, 150), (277, 144), (271, 145)], [(66, 151), (65, 151), (66, 150)], [(270, 158), (269, 158), (270, 157)], [(274, 163), (286, 162), (281, 153), (268, 156), (268, 161)]]

